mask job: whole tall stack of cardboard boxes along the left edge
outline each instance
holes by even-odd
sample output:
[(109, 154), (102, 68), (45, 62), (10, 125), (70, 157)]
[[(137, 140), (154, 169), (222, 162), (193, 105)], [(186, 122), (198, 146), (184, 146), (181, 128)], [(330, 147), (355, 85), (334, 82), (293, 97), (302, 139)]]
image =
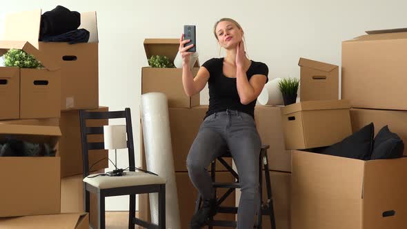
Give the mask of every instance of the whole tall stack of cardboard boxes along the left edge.
[[(1, 52), (4, 53), (10, 48), (25, 50), (33, 54), (46, 68), (41, 70), (0, 68), (0, 81), (3, 84), (0, 85), (0, 90), (5, 93), (5, 96), (1, 96), (0, 101), (4, 107), (10, 108), (0, 111), (1, 124), (3, 124), (1, 126), (2, 138), (15, 135), (22, 136), (23, 139), (32, 139), (32, 141), (38, 139), (52, 141), (52, 143), (57, 143), (57, 157), (54, 159), (47, 157), (0, 158), (1, 162), (8, 164), (8, 167), (1, 166), (4, 169), (8, 168), (8, 172), (1, 173), (12, 176), (1, 179), (10, 181), (10, 184), (3, 186), (8, 187), (3, 190), (10, 193), (6, 193), (2, 197), (13, 200), (10, 203), (13, 203), (14, 208), (17, 209), (17, 212), (5, 213), (1, 217), (83, 212), (79, 110), (108, 110), (106, 107), (99, 107), (96, 21), (96, 12), (82, 12), (80, 28), (86, 28), (90, 32), (90, 39), (88, 43), (70, 45), (68, 43), (39, 42), (41, 10), (6, 16), (6, 29), (3, 37), (5, 41), (0, 42)], [(90, 122), (88, 126), (107, 124), (107, 120), (100, 120)], [(101, 139), (103, 136), (99, 135), (90, 141), (100, 141)], [(100, 172), (107, 168), (107, 157), (107, 150), (90, 152), (89, 165), (93, 166), (91, 171)], [(14, 160), (14, 164), (7, 163), (6, 160)], [(96, 163), (97, 161), (99, 163)], [(17, 177), (14, 175), (14, 170), (21, 171), (18, 172)], [(48, 177), (48, 179), (44, 177)], [(16, 179), (21, 180), (16, 182)], [(18, 183), (23, 183), (23, 186), (17, 186)], [(10, 195), (13, 193), (15, 198), (10, 199)], [(32, 195), (27, 195), (27, 193)], [(21, 197), (27, 197), (27, 199), (24, 200)], [(95, 197), (92, 196), (91, 199), (90, 218), (95, 228), (97, 202)], [(21, 208), (21, 204), (24, 208)], [(23, 212), (21, 209), (29, 209), (27, 205), (32, 206), (35, 210)], [(5, 207), (5, 212), (10, 212), (9, 207), (3, 207)], [(63, 215), (68, 218), (72, 217), (72, 214)], [(77, 216), (80, 217), (81, 214), (79, 213)], [(44, 217), (43, 220), (49, 219), (47, 217)], [(77, 221), (79, 217), (77, 217)], [(79, 221), (88, 223), (88, 215), (85, 217), (86, 220), (80, 219)], [(20, 218), (11, 223), (19, 224), (31, 220), (41, 221), (41, 218)], [(1, 221), (1, 223), (5, 222)], [(59, 228), (57, 224), (55, 225), (55, 228)], [(74, 223), (73, 225), (77, 225), (76, 228), (79, 228), (79, 225), (82, 224)], [(88, 226), (84, 228), (88, 228)]]

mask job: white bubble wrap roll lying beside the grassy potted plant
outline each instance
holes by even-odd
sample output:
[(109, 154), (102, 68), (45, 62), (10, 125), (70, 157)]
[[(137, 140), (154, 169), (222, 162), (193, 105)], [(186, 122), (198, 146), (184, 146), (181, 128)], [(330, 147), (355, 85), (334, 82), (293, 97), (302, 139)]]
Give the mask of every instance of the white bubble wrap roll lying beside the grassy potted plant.
[(279, 90), (279, 81), (281, 78), (272, 79), (268, 81), (261, 91), (257, 101), (261, 105), (284, 105), (283, 95)]

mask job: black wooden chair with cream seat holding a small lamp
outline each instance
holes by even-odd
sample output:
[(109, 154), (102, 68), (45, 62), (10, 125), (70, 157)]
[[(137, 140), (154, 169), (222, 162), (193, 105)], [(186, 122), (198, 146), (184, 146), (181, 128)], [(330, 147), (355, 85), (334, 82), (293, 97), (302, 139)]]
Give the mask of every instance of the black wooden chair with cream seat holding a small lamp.
[[(99, 229), (105, 226), (105, 197), (130, 195), (130, 210), (128, 228), (135, 229), (135, 225), (144, 228), (166, 228), (166, 180), (157, 175), (140, 172), (135, 168), (135, 148), (132, 135), (130, 108), (122, 111), (108, 112), (79, 112), (81, 123), (81, 141), (83, 155), (83, 199), (86, 212), (90, 211), (90, 192), (97, 195)], [(90, 175), (88, 166), (88, 150), (104, 149), (103, 142), (88, 142), (88, 135), (102, 135), (103, 126), (87, 127), (88, 119), (126, 119), (127, 147), (129, 168), (126, 175), (111, 177), (108, 175)], [(137, 170), (137, 171), (136, 171)], [(135, 217), (136, 195), (142, 193), (159, 193), (159, 221), (158, 225), (143, 221)]]

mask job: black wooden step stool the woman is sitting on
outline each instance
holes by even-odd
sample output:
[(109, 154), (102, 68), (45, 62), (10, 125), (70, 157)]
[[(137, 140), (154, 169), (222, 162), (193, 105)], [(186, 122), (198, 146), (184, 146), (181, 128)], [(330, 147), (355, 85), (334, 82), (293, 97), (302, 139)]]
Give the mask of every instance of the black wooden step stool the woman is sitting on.
[[(262, 228), (263, 223), (262, 223), (262, 217), (263, 215), (268, 215), (270, 217), (270, 227), (271, 229), (276, 229), (275, 226), (275, 215), (274, 215), (274, 209), (273, 209), (273, 203), (272, 203), (272, 192), (271, 192), (271, 183), (270, 183), (270, 172), (268, 169), (268, 159), (267, 159), (267, 149), (270, 148), (269, 146), (261, 146), (260, 150), (260, 159), (259, 159), (259, 204), (257, 205), (257, 221), (255, 223), (255, 228)], [(232, 157), (230, 152), (225, 152), (224, 155), (221, 155), (221, 157), (217, 157), (212, 163), (210, 164), (211, 166), (211, 172), (210, 175), (212, 177), (213, 181), (213, 187), (215, 188), (215, 193), (217, 188), (228, 188), (226, 193), (222, 195), (219, 199), (217, 199), (217, 213), (228, 213), (228, 214), (237, 214), (237, 207), (235, 206), (221, 206), (221, 203), (223, 203), (226, 198), (230, 194), (232, 194), (236, 188), (240, 188), (239, 184), (239, 175), (237, 172), (224, 160), (224, 158), (227, 157)], [(227, 170), (230, 172), (233, 177), (235, 177), (235, 182), (234, 183), (219, 183), (216, 182), (216, 161), (219, 161)], [(263, 171), (264, 175), (266, 176), (266, 191), (267, 191), (267, 199), (266, 201), (262, 200), (262, 195), (263, 195)], [(201, 208), (201, 196), (198, 194), (197, 202), (195, 205), (195, 213)], [(209, 219), (208, 223), (208, 228), (212, 229), (214, 226), (220, 226), (220, 227), (230, 227), (230, 228), (236, 228), (237, 227), (237, 221), (221, 221), (221, 220), (214, 220), (213, 217)]]

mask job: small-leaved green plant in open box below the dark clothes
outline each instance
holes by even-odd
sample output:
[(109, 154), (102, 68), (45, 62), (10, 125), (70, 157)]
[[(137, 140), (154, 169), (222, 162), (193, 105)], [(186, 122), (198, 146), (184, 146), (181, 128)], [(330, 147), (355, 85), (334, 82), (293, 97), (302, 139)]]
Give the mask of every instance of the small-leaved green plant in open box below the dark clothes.
[(43, 68), (32, 54), (13, 48), (4, 54), (4, 65), (18, 68)]

